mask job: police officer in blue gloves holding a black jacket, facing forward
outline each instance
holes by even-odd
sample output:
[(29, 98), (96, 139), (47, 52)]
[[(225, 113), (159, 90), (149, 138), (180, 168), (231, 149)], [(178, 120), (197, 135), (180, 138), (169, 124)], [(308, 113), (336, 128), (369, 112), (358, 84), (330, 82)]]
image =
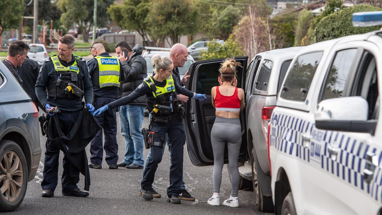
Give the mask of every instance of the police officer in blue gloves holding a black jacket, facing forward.
[[(40, 103), (47, 110), (58, 107), (60, 112), (51, 112), (50, 116), (57, 114), (58, 124), (64, 134), (68, 134), (74, 126), (77, 118), (83, 108), (83, 96), (74, 93), (73, 88), (77, 87), (84, 91), (86, 107), (89, 111), (94, 111), (93, 87), (89, 77), (89, 71), (84, 59), (74, 56), (74, 37), (66, 34), (61, 37), (58, 42), (58, 55), (51, 56), (44, 62), (40, 68), (39, 77), (36, 81), (36, 95)], [(72, 84), (71, 90), (68, 85)], [(45, 90), (48, 90), (48, 95)], [(66, 90), (65, 90), (66, 89)], [(79, 92), (77, 90), (77, 92)], [(45, 144), (45, 160), (44, 160), (44, 179), (41, 182), (42, 197), (52, 197), (57, 186), (58, 176), (58, 158), (60, 148), (53, 145), (52, 140), (47, 138)], [(72, 181), (74, 177), (71, 173), (70, 161), (64, 158), (62, 161), (62, 194), (78, 197), (86, 197), (89, 192), (78, 188), (77, 184)], [(79, 172), (75, 177), (79, 177)]]

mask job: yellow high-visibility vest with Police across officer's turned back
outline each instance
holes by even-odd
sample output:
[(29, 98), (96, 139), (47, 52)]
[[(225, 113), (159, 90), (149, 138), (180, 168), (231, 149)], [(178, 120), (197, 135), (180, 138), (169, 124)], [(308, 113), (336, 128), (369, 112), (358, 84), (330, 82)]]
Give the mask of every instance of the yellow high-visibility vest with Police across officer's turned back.
[(99, 67), (99, 87), (120, 86), (120, 62), (117, 57), (95, 57)]

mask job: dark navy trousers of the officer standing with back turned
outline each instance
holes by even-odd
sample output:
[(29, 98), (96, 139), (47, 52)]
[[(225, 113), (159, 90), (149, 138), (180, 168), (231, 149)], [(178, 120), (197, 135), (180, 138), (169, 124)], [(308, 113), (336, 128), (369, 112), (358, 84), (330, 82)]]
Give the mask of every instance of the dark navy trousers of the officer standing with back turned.
[[(93, 101), (95, 110), (102, 108), (115, 101), (113, 98), (96, 97)], [(108, 109), (99, 116), (94, 116), (95, 121), (102, 128), (90, 143), (90, 161), (95, 165), (102, 163), (104, 149), (106, 153), (105, 161), (108, 165), (117, 164), (118, 144), (117, 144), (117, 117), (115, 112), (117, 108)], [(102, 148), (102, 130), (105, 135), (104, 148)]]

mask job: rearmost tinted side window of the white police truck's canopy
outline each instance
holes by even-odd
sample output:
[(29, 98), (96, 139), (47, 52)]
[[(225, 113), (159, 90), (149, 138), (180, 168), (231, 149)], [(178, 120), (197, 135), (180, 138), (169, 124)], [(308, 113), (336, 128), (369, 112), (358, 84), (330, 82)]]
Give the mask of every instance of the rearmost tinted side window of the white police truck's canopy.
[(291, 67), (281, 91), (281, 98), (293, 101), (305, 101), (314, 73), (323, 52), (301, 55)]

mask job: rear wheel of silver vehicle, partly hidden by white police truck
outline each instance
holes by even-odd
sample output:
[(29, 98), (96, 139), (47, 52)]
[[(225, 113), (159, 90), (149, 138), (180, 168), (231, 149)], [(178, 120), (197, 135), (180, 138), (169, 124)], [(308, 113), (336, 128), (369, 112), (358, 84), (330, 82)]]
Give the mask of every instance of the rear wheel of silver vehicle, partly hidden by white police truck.
[(259, 184), (259, 180), (257, 178), (257, 169), (260, 168), (260, 165), (259, 165), (259, 161), (257, 161), (257, 156), (254, 149), (252, 149), (252, 152), (251, 152), (251, 163), (252, 163), (252, 183), (253, 183), (255, 206), (258, 211), (273, 212), (274, 205), (272, 201), (272, 196), (262, 195), (261, 185)]

